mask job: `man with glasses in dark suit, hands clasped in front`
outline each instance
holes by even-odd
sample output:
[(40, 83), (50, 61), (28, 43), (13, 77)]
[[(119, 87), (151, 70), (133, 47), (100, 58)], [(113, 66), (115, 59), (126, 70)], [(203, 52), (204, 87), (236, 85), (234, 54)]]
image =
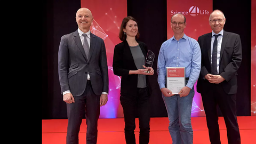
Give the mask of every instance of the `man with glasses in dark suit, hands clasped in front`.
[(223, 30), (226, 19), (220, 10), (210, 14), (212, 33), (202, 35), (197, 92), (201, 93), (211, 143), (220, 143), (217, 105), (225, 119), (228, 143), (241, 143), (236, 118), (237, 70), (242, 61), (239, 35)]

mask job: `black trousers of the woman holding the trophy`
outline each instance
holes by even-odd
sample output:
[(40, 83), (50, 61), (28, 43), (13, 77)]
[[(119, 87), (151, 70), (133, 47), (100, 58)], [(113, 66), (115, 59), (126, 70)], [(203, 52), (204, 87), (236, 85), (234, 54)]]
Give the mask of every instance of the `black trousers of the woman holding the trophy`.
[(148, 87), (137, 88), (137, 95), (121, 95), (121, 105), (124, 110), (125, 141), (127, 144), (135, 144), (135, 117), (139, 114), (140, 144), (149, 142), (149, 121), (150, 121), (150, 101)]

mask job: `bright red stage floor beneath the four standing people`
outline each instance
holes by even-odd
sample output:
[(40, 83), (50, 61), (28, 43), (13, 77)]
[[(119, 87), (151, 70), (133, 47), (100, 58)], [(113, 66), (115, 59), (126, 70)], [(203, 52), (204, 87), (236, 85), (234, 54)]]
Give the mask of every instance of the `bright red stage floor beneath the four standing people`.
[[(242, 144), (256, 143), (256, 116), (237, 117)], [(79, 143), (86, 143), (86, 119), (83, 119)], [(194, 130), (194, 144), (210, 143), (205, 117), (191, 118)], [(42, 143), (43, 144), (63, 144), (66, 143), (67, 119), (42, 120)], [(150, 119), (150, 140), (149, 144), (172, 143), (168, 131), (168, 118)], [(219, 117), (221, 143), (228, 143), (226, 125), (223, 117)], [(139, 120), (136, 118), (135, 129), (136, 143), (139, 144)], [(124, 119), (99, 119), (98, 122), (98, 144), (123, 144)]]

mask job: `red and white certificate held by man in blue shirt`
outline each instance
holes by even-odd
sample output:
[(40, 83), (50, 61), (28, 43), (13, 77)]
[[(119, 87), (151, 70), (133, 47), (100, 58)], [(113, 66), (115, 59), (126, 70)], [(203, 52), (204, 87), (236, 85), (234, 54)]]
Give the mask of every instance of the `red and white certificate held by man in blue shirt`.
[(178, 94), (185, 84), (185, 67), (166, 67), (166, 88), (172, 94)]

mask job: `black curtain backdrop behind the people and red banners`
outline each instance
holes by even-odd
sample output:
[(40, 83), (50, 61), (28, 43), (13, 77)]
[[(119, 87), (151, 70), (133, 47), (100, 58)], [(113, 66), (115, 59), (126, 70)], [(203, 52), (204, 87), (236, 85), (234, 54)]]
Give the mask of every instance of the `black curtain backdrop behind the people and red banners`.
[[(45, 3), (42, 36), (42, 119), (67, 118), (66, 103), (63, 102), (60, 93), (58, 49), (61, 36), (77, 30), (75, 15), (79, 8), (81, 8), (80, 0), (72, 2), (54, 0)], [(224, 29), (241, 36), (243, 60), (237, 72), (237, 116), (250, 116), (251, 1), (213, 0), (213, 10), (215, 9), (225, 14), (227, 20)], [(166, 0), (127, 0), (127, 15), (138, 21), (140, 31), (138, 41), (146, 43), (149, 49), (154, 51), (156, 57), (153, 68), (156, 71), (159, 49), (167, 40)], [(198, 25), (199, 23), (198, 21)], [(150, 79), (150, 83), (154, 95), (151, 97), (151, 117), (167, 117), (156, 74)], [(220, 111), (219, 116), (222, 116)]]

